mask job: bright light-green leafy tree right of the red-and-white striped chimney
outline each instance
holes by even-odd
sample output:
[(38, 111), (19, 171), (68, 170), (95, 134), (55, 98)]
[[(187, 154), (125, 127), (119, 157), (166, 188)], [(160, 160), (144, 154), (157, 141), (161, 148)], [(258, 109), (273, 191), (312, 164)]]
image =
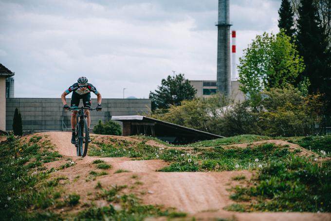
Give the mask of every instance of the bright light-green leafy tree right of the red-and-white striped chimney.
[(291, 37), (283, 31), (276, 36), (263, 33), (257, 36), (239, 58), (240, 90), (253, 96), (262, 90), (284, 88), (294, 84), (304, 70)]

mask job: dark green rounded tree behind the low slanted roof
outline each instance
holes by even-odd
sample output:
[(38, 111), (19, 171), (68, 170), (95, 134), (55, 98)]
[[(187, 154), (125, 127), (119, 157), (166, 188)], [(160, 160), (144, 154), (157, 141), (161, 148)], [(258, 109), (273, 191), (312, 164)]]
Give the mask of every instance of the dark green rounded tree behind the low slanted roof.
[(168, 109), (170, 105), (181, 105), (183, 100), (192, 100), (197, 91), (190, 82), (184, 78), (184, 74), (170, 75), (162, 79), (161, 86), (155, 92), (149, 93), (152, 99), (152, 110)]

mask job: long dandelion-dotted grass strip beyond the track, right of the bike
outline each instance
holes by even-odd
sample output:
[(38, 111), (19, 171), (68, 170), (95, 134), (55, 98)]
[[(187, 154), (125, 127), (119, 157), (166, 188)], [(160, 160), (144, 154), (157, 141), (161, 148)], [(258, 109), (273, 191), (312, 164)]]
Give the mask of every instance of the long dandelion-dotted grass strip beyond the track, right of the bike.
[[(224, 141), (226, 144), (247, 140), (262, 139), (261, 136), (245, 135), (236, 136)], [(219, 140), (219, 139), (217, 139)], [(219, 142), (219, 141), (208, 141)], [(113, 144), (94, 142), (90, 155), (101, 157), (129, 157), (135, 160), (161, 159), (171, 164), (159, 171), (224, 171), (254, 169), (260, 164), (275, 159), (285, 160), (290, 151), (285, 146), (275, 144), (263, 144), (257, 147), (247, 148), (215, 148), (194, 147), (193, 151), (185, 151), (176, 148), (152, 147), (144, 142), (134, 144), (131, 147), (116, 147)], [(255, 159), (259, 162), (256, 163)], [(238, 166), (237, 166), (238, 165)], [(236, 167), (237, 166), (237, 167)]]

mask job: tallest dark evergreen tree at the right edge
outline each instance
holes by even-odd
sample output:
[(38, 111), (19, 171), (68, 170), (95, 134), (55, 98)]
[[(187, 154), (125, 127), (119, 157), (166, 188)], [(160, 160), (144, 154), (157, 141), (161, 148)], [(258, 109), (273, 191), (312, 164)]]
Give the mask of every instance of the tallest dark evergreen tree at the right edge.
[(299, 54), (303, 56), (306, 65), (306, 69), (300, 74), (297, 83), (304, 77), (308, 77), (311, 82), (309, 92), (325, 93), (327, 100), (331, 101), (328, 42), (323, 28), (319, 25), (317, 8), (312, 0), (301, 0), (297, 28), (296, 43)]

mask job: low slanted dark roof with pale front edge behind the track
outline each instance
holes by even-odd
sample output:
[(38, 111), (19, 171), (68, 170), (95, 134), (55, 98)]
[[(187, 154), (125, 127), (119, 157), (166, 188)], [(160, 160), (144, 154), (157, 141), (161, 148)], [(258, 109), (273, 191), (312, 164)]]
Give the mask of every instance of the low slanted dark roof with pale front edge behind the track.
[(201, 131), (198, 129), (187, 128), (184, 126), (157, 120), (157, 119), (146, 117), (143, 115), (112, 116), (111, 120), (155, 123), (155, 124), (167, 127), (167, 128), (172, 128), (173, 130), (180, 130), (180, 131), (183, 131), (183, 132), (191, 134), (191, 135), (195, 134), (196, 136), (202, 136), (202, 137), (205, 137), (208, 139), (224, 138), (223, 136), (220, 136), (217, 134), (204, 132), (204, 131)]

